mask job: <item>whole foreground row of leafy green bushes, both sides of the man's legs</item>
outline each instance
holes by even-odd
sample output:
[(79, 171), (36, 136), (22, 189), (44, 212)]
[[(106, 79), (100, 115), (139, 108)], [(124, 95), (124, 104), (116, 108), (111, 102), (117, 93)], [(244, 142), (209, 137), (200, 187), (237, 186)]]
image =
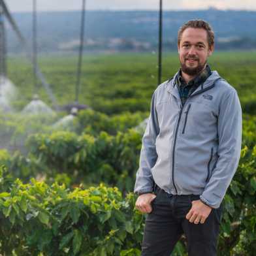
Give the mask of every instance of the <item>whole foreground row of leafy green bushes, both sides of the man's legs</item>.
[[(252, 256), (255, 249), (256, 148), (242, 150), (238, 172), (224, 199), (218, 251)], [(14, 180), (0, 169), (2, 255), (140, 255), (144, 217), (136, 197), (116, 187), (67, 189), (32, 179)], [(7, 239), (8, 237), (8, 239)], [(185, 255), (184, 240), (173, 253)], [(42, 254), (40, 254), (42, 253)]]

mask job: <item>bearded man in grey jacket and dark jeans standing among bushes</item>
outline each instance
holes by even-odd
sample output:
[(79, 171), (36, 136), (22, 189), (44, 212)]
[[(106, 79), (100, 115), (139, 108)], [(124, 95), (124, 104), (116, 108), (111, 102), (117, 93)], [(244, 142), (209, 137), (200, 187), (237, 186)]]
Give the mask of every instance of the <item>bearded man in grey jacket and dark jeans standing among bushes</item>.
[(211, 71), (214, 32), (191, 20), (178, 32), (180, 71), (155, 89), (136, 174), (136, 208), (148, 213), (142, 256), (170, 256), (185, 234), (189, 256), (214, 256), (221, 201), (238, 166), (242, 110)]

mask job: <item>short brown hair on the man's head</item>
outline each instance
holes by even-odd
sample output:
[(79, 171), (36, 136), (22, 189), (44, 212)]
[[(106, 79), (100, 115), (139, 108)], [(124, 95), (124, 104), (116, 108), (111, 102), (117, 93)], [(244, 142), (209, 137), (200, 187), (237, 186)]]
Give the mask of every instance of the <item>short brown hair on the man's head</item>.
[(209, 46), (214, 45), (214, 31), (212, 30), (212, 27), (208, 24), (208, 22), (205, 22), (204, 20), (189, 20), (184, 25), (182, 25), (182, 27), (180, 27), (178, 31), (178, 45), (180, 45), (182, 33), (185, 29), (189, 27), (193, 27), (195, 29), (204, 29), (207, 32)]

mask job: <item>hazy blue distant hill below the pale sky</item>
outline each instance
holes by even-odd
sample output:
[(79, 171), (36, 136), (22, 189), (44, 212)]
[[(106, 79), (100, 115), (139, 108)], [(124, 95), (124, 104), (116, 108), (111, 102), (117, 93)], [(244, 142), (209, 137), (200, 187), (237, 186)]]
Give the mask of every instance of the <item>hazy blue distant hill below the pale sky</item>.
[[(31, 13), (14, 13), (20, 30), (31, 42)], [(185, 21), (207, 20), (216, 33), (216, 49), (255, 49), (256, 12), (235, 10), (166, 11), (163, 13), (164, 50), (176, 50), (176, 37)], [(39, 12), (39, 51), (72, 52), (78, 48), (80, 12)], [(8, 51), (21, 52), (20, 43), (7, 25)], [(157, 50), (157, 11), (86, 12), (87, 51)]]

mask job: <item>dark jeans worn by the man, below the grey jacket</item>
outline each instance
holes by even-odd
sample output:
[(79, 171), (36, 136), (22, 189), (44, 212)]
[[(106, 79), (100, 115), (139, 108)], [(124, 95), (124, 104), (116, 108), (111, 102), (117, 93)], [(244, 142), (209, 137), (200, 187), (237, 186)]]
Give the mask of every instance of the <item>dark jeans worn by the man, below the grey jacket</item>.
[(170, 256), (182, 234), (189, 256), (216, 256), (222, 206), (212, 209), (204, 224), (190, 223), (185, 216), (199, 195), (169, 195), (157, 188), (152, 212), (146, 218), (142, 256)]

